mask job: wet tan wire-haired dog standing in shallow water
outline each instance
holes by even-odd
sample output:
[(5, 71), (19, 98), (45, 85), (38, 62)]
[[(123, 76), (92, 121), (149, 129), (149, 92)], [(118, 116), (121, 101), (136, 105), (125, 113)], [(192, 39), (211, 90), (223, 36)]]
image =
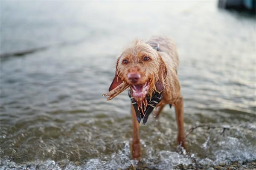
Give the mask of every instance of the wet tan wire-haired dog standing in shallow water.
[[(116, 73), (109, 91), (125, 83), (131, 89), (131, 96), (138, 108), (147, 106), (146, 96), (154, 92), (162, 95), (157, 104), (155, 116), (158, 117), (167, 104), (174, 106), (177, 119), (177, 141), (185, 148), (183, 123), (183, 97), (177, 77), (178, 54), (175, 43), (167, 37), (151, 37), (147, 42), (135, 40), (116, 61)], [(125, 88), (122, 88), (124, 90)], [(144, 113), (143, 113), (144, 114)], [(132, 157), (140, 159), (139, 122), (131, 105), (133, 122)]]

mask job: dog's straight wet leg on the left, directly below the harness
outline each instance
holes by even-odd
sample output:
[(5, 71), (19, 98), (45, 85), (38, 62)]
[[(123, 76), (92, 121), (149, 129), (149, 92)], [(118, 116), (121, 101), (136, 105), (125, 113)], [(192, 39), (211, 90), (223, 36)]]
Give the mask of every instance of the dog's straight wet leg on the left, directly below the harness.
[(140, 126), (137, 121), (136, 112), (134, 110), (133, 105), (131, 105), (131, 117), (133, 124), (133, 135), (132, 135), (132, 147), (131, 153), (133, 159), (140, 159)]

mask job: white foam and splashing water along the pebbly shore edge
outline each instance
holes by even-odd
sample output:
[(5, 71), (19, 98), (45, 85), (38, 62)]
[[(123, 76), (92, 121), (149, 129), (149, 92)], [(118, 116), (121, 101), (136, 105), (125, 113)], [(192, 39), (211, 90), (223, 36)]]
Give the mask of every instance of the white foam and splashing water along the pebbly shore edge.
[[(253, 127), (254, 125), (248, 125)], [(198, 156), (198, 153), (190, 152), (188, 156), (186, 151), (177, 147), (179, 151), (159, 150), (154, 155), (154, 148), (150, 147), (146, 150), (141, 162), (134, 161), (130, 155), (130, 142), (124, 142), (124, 147), (113, 153), (110, 157), (88, 159), (85, 162), (74, 163), (68, 160), (55, 162), (33, 161), (23, 164), (17, 164), (9, 158), (1, 159), (1, 170), (8, 168), (36, 170), (38, 168), (44, 170), (114, 170), (125, 169), (130, 166), (137, 167), (143, 164), (143, 167), (162, 169), (173, 169), (179, 164), (201, 164), (204, 166), (216, 166), (218, 164), (230, 164), (232, 161), (252, 161), (256, 159), (256, 147), (252, 143), (245, 142), (243, 138), (232, 136), (213, 135), (214, 130), (209, 134), (201, 147), (204, 150), (204, 156)], [(245, 134), (246, 135), (246, 134)], [(213, 137), (213, 138), (212, 138)], [(253, 136), (255, 137), (255, 136)], [(143, 140), (142, 140), (143, 143)], [(246, 144), (247, 143), (247, 144)], [(207, 156), (207, 157), (206, 157)]]

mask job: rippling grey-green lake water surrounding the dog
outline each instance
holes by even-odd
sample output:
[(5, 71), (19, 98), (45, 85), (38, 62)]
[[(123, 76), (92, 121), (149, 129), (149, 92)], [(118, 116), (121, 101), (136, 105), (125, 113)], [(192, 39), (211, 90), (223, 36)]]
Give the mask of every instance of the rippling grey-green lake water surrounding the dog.
[[(1, 169), (125, 169), (132, 125), (127, 92), (105, 102), (116, 57), (134, 38), (177, 42), (189, 156), (175, 111), (140, 125), (143, 167), (209, 167), (256, 160), (254, 16), (216, 1), (1, 1)], [(210, 128), (208, 128), (210, 126)], [(225, 129), (225, 130), (224, 130)]]

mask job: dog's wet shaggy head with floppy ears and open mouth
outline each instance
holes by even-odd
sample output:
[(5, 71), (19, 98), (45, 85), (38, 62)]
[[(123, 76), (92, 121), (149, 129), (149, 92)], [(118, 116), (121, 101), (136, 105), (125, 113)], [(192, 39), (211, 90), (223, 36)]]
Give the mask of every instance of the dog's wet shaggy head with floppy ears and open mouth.
[(144, 101), (147, 94), (165, 89), (166, 65), (162, 57), (142, 40), (134, 41), (116, 61), (116, 74), (109, 91), (127, 82), (134, 99)]

